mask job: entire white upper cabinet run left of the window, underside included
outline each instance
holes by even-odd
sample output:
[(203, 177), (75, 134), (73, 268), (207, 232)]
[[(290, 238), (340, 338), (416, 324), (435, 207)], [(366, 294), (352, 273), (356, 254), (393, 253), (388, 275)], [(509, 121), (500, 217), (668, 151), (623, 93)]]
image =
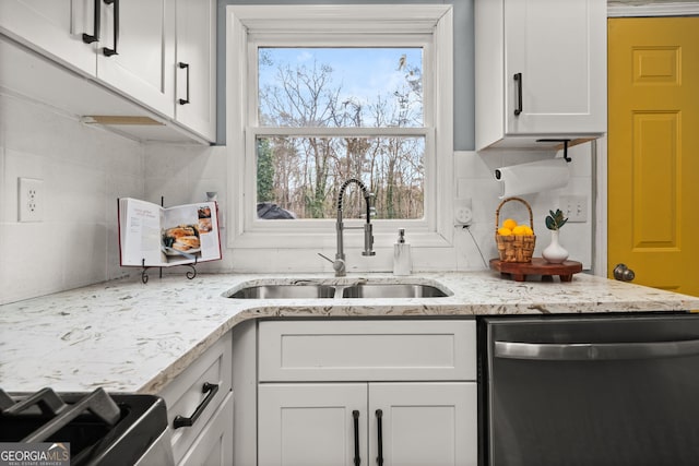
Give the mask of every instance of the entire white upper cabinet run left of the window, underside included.
[[(2, 59), (0, 69), (14, 69), (0, 72), (0, 86), (141, 141), (210, 143), (215, 26), (215, 0), (0, 0), (0, 36), (12, 39), (0, 46), (42, 57), (16, 51), (27, 59), (13, 67)], [(51, 64), (56, 72), (32, 71)], [(115, 116), (137, 118), (102, 118)]]

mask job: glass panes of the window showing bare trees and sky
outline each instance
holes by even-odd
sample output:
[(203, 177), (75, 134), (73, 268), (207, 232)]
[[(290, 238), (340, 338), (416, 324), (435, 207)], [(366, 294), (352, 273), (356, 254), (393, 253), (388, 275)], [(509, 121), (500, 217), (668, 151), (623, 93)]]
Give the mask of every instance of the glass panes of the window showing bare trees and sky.
[[(258, 47), (257, 56), (258, 218), (332, 218), (348, 178), (374, 193), (377, 219), (423, 217), (422, 47)], [(297, 128), (308, 134), (286, 131)], [(364, 128), (422, 130), (335, 131)], [(348, 217), (363, 212), (360, 196), (347, 201)]]

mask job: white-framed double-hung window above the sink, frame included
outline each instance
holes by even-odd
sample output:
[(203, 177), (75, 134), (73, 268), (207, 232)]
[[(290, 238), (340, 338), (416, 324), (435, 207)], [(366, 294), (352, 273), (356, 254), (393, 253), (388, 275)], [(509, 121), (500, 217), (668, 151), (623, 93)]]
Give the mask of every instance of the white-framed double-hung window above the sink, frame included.
[[(449, 242), (450, 5), (230, 5), (226, 44), (234, 248), (334, 238), (348, 178), (375, 194), (375, 236)], [(363, 203), (348, 190), (344, 217)]]

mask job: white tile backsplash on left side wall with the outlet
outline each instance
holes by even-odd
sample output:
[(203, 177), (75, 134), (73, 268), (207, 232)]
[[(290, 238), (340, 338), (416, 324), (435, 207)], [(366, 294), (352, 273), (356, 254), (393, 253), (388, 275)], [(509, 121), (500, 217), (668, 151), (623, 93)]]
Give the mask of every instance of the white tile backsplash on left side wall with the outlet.
[[(116, 278), (117, 198), (144, 194), (144, 148), (0, 94), (0, 303)], [(44, 180), (44, 220), (17, 222), (17, 178)]]

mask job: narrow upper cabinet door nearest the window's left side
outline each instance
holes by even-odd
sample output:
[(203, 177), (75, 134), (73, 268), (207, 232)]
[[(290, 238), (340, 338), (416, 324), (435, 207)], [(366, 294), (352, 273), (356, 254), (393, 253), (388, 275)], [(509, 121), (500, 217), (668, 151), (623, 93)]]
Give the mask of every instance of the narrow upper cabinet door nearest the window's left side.
[(216, 2), (177, 0), (175, 118), (216, 139)]

